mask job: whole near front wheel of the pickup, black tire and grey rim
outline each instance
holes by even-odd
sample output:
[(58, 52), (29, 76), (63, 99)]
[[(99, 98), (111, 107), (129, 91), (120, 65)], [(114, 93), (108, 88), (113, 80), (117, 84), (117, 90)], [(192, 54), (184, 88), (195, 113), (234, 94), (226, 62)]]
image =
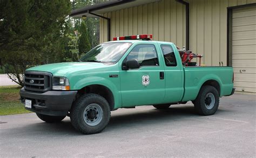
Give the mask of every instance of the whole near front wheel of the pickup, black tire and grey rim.
[(70, 119), (72, 126), (84, 134), (99, 133), (109, 123), (109, 103), (97, 94), (83, 95), (72, 105)]

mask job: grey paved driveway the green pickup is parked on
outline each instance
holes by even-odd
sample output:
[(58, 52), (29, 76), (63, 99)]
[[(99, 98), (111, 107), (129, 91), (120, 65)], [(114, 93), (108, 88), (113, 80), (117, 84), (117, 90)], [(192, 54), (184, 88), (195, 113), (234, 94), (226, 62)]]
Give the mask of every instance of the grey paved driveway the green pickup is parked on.
[(94, 135), (73, 130), (68, 117), (47, 124), (34, 113), (0, 116), (0, 157), (256, 157), (255, 97), (223, 97), (207, 117), (191, 103), (120, 109)]

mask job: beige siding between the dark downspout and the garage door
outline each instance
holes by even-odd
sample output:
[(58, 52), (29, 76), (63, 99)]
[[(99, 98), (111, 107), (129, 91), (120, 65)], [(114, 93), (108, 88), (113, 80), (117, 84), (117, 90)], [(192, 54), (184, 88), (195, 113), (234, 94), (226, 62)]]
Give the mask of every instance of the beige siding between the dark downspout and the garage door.
[(188, 0), (190, 3), (190, 49), (203, 54), (203, 63), (227, 65), (227, 7), (256, 0)]

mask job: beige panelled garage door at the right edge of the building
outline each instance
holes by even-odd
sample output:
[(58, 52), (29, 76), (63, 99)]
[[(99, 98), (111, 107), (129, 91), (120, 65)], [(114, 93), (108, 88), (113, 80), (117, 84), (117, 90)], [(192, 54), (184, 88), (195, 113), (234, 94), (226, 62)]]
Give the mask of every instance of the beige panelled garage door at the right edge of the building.
[(256, 6), (233, 10), (232, 66), (236, 90), (256, 93)]

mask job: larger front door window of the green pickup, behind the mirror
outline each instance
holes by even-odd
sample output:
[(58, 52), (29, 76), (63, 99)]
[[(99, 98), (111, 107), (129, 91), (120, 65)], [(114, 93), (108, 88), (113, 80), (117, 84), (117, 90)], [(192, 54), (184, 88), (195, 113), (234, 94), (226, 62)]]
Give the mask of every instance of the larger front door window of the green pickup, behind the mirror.
[(140, 66), (158, 66), (157, 52), (154, 45), (137, 45), (127, 55), (127, 60), (137, 60)]

